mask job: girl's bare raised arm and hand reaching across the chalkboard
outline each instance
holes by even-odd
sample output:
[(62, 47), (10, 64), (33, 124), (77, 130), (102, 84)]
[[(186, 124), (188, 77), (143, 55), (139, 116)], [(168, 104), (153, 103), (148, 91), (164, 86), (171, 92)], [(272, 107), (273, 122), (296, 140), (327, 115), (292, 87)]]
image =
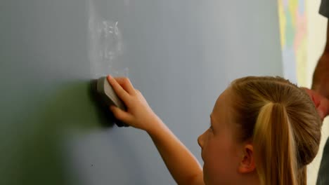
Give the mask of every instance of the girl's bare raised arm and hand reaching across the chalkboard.
[(153, 113), (129, 79), (108, 76), (108, 81), (127, 107), (127, 111), (110, 107), (111, 111), (120, 121), (148, 132), (176, 183), (204, 184), (198, 160)]

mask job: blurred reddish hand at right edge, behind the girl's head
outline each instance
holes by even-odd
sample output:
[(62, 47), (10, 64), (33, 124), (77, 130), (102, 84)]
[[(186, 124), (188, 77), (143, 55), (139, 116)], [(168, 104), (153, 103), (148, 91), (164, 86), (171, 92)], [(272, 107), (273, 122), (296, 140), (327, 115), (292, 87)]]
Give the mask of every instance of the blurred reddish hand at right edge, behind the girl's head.
[(309, 94), (309, 97), (314, 102), (316, 110), (318, 111), (318, 114), (323, 121), (323, 119), (329, 114), (329, 100), (317, 93), (315, 90), (310, 90), (309, 88), (302, 89), (304, 89), (307, 94)]

